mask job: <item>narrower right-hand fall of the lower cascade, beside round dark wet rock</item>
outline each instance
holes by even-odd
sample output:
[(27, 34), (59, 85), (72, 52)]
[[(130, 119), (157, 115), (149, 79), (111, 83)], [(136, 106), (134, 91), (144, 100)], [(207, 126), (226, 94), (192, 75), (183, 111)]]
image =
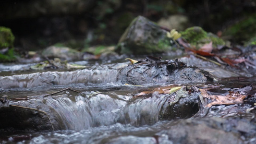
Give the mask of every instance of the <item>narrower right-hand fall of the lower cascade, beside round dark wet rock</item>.
[(116, 120), (134, 126), (152, 125), (158, 122), (162, 107), (169, 97), (169, 94), (153, 93), (150, 97), (141, 97), (130, 101), (120, 110)]

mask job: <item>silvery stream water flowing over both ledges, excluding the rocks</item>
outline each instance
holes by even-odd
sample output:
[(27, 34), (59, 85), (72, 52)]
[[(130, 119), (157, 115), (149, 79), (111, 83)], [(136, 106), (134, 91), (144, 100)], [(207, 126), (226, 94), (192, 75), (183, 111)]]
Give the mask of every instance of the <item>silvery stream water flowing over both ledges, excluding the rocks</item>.
[[(88, 65), (88, 62), (80, 63)], [(31, 110), (33, 114), (40, 113), (41, 124), (46, 125), (39, 131), (37, 129), (41, 127), (33, 123), (24, 131), (23, 128), (0, 131), (0, 143), (172, 144), (168, 135), (170, 128), (175, 130), (175, 126), (184, 120), (189, 123), (186, 118), (198, 111), (198, 105), (183, 105), (189, 109), (185, 114), (175, 112), (173, 108), (171, 118), (166, 117), (170, 99), (175, 99), (175, 96), (158, 93), (142, 97), (135, 95), (158, 86), (173, 85), (121, 84), (116, 78), (119, 70), (127, 64), (91, 63), (88, 68), (74, 71), (29, 71), (27, 66), (32, 64), (0, 65), (0, 97), (7, 96), (9, 105), (21, 106), (19, 108)], [(234, 81), (238, 80), (223, 80), (222, 84), (231, 87)], [(242, 79), (239, 81), (241, 85), (255, 83), (256, 79), (245, 79), (244, 83)], [(209, 85), (221, 85), (221, 82)], [(182, 96), (187, 95), (182, 93)], [(176, 137), (182, 139), (183, 134), (179, 135)]]

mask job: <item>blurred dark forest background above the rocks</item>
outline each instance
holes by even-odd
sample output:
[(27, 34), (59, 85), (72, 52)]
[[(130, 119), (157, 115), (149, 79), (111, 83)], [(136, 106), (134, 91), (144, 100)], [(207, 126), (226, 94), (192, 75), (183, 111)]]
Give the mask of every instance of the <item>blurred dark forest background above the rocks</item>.
[[(256, 0), (1, 0), (0, 26), (12, 29), (15, 47), (35, 50), (64, 43), (82, 49), (117, 44), (138, 15), (157, 22), (182, 14), (188, 26), (223, 37), (234, 24), (252, 19), (236, 31), (255, 36), (255, 13)], [(239, 44), (248, 37), (225, 38)]]

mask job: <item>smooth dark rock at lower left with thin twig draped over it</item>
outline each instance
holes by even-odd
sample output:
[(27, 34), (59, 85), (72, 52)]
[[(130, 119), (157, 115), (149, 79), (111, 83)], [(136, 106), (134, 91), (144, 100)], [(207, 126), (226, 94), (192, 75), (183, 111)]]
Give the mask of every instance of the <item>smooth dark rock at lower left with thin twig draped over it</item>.
[(27, 101), (26, 105), (28, 104), (31, 105), (30, 108), (13, 105), (13, 102), (8, 107), (0, 107), (0, 132), (54, 130), (52, 122), (55, 120), (51, 121), (49, 115), (42, 111), (48, 109), (42, 106), (42, 100), (30, 100)]

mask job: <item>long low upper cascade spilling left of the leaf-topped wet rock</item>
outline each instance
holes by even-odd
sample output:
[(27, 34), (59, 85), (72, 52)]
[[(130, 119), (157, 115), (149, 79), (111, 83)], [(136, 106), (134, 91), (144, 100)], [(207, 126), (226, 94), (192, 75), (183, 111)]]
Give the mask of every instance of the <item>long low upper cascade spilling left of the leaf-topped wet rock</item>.
[(118, 69), (109, 66), (93, 66), (73, 72), (36, 72), (12, 76), (0, 76), (0, 88), (27, 88), (35, 86), (69, 84), (105, 84), (116, 82)]

